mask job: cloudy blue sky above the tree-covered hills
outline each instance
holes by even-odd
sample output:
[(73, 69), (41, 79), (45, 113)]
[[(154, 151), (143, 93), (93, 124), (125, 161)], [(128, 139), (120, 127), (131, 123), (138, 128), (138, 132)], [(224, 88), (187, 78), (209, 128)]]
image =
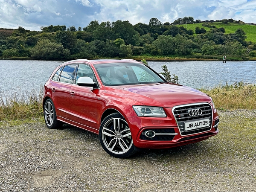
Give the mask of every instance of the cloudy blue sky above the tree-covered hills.
[(41, 26), (78, 29), (91, 21), (128, 20), (162, 23), (183, 17), (194, 20), (234, 19), (256, 23), (256, 0), (0, 0), (0, 28), (41, 31)]

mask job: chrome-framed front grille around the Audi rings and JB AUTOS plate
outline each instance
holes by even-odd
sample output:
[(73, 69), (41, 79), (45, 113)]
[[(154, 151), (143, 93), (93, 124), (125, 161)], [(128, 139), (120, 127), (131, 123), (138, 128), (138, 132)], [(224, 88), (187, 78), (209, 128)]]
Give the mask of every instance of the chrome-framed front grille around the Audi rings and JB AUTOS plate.
[[(201, 109), (202, 114), (198, 116), (189, 116), (188, 111), (190, 109)], [(175, 116), (175, 120), (178, 125), (181, 136), (203, 133), (209, 131), (212, 128), (212, 106), (207, 102), (178, 105), (172, 108), (172, 113)], [(192, 122), (200, 119), (209, 119), (209, 126), (185, 131), (185, 122)]]

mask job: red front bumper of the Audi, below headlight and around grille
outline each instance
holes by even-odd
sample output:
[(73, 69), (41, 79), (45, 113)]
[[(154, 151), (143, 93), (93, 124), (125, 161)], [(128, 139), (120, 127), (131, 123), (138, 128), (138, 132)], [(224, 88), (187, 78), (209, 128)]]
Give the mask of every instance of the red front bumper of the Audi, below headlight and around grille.
[[(171, 109), (170, 109), (171, 110)], [(211, 128), (206, 131), (189, 135), (181, 135), (172, 111), (167, 111), (167, 117), (128, 117), (134, 146), (137, 148), (172, 148), (176, 146), (207, 140), (218, 134), (218, 113), (213, 113)], [(154, 131), (155, 136), (145, 137), (147, 131)]]

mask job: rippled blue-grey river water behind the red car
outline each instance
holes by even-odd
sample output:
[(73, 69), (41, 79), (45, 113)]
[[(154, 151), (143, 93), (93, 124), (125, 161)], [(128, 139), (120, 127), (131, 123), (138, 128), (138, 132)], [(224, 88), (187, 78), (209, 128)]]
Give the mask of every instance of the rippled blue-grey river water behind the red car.
[[(63, 61), (0, 60), (0, 91), (39, 89), (55, 67)], [(162, 72), (166, 65), (179, 84), (193, 88), (211, 88), (219, 84), (244, 81), (256, 84), (256, 61), (149, 61), (149, 66)]]

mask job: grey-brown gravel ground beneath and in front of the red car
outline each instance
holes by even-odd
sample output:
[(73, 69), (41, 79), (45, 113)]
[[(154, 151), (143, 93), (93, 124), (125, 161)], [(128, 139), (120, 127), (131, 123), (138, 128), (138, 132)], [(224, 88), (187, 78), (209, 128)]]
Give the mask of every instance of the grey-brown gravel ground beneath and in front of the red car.
[(256, 111), (219, 115), (215, 137), (128, 159), (72, 126), (0, 122), (0, 192), (256, 192)]

